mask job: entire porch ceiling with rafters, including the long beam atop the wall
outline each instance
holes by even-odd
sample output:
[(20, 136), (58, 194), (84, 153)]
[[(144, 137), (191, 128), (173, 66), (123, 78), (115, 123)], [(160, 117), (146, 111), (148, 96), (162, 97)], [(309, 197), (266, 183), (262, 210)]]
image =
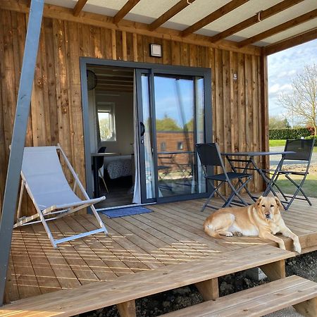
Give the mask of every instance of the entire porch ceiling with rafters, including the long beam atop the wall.
[[(44, 17), (256, 55), (317, 39), (317, 0), (44, 1)], [(30, 10), (30, 0), (0, 2)]]

